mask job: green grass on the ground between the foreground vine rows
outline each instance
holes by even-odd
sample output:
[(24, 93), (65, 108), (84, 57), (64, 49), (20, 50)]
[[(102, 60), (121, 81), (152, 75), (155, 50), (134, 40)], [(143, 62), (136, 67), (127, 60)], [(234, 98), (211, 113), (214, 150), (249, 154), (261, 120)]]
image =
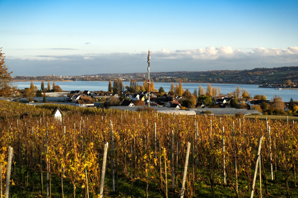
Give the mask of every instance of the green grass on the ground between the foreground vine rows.
[[(183, 167), (181, 167), (183, 168)], [(181, 170), (180, 170), (181, 171)], [(253, 168), (252, 168), (253, 171)], [(22, 168), (22, 181), (19, 180), (19, 169), (18, 166), (16, 166), (15, 170), (15, 178), (13, 179), (15, 182), (14, 186), (11, 186), (10, 189), (10, 197), (46, 197), (46, 174), (43, 173), (43, 183), (44, 183), (44, 194), (41, 195), (41, 188), (40, 188), (40, 178), (39, 178), (39, 172), (33, 173), (33, 191), (31, 190), (31, 177), (30, 172), (28, 173), (28, 185), (24, 183), (24, 174), (25, 174), (25, 167)], [(187, 180), (192, 178), (192, 168), (189, 167), (188, 170), (188, 178)], [(252, 172), (253, 174), (253, 172)], [(164, 175), (164, 174), (163, 174)], [(198, 170), (195, 176), (195, 195), (193, 197), (211, 197), (212, 191), (211, 191), (211, 184), (209, 180), (209, 170), (201, 171)], [(266, 171), (266, 177), (268, 179), (268, 192), (269, 194), (266, 194), (265, 191), (265, 185), (262, 180), (262, 195), (263, 197), (285, 197), (286, 190), (285, 190), (285, 182), (281, 175), (283, 173), (278, 170), (277, 172), (277, 180), (270, 180), (270, 172)], [(228, 175), (227, 175), (228, 176)], [(13, 175), (11, 175), (13, 177)], [(111, 186), (111, 175), (106, 175), (105, 179), (105, 186)], [(178, 197), (180, 190), (181, 190), (181, 178), (178, 178), (178, 187), (172, 188), (171, 187), (171, 176), (170, 173), (168, 173), (168, 197)], [(215, 197), (235, 197), (235, 190), (232, 187), (231, 184), (228, 183), (227, 178), (227, 185), (222, 185), (223, 178), (221, 174), (215, 174)], [(174, 179), (176, 180), (176, 177), (174, 176)], [(192, 179), (191, 179), (192, 180)], [(158, 181), (159, 182), (159, 181)], [(124, 175), (119, 175), (119, 194), (116, 193), (109, 193), (108, 197), (130, 197), (130, 181), (128, 179), (125, 179)], [(174, 182), (175, 183), (175, 182)], [(233, 181), (235, 183), (235, 180)], [(291, 190), (291, 197), (298, 197), (298, 191), (297, 188), (294, 188), (294, 178), (291, 177), (288, 180), (289, 187)], [(187, 188), (187, 183), (186, 189)], [(239, 185), (239, 196), (240, 197), (249, 197), (250, 192), (248, 191), (248, 185), (250, 185), (245, 177), (243, 175), (239, 175), (238, 178), (238, 185)], [(163, 195), (160, 192), (159, 183), (149, 183), (148, 186), (148, 197), (160, 197), (162, 198)], [(163, 183), (164, 186), (164, 183)], [(51, 176), (51, 187), (52, 187), (52, 197), (62, 197), (61, 196), (61, 189), (60, 189), (60, 178), (58, 178), (55, 175)], [(109, 188), (108, 187), (108, 188)], [(145, 188), (146, 184), (140, 180), (136, 180), (133, 184), (133, 195), (134, 197), (145, 197)], [(116, 183), (115, 183), (115, 189), (116, 189)], [(165, 187), (163, 187), (165, 190)], [(259, 192), (260, 189), (260, 183), (259, 183), (259, 176), (257, 175), (256, 180), (256, 186), (255, 189), (257, 192)], [(293, 190), (294, 189), (294, 190)], [(106, 189), (105, 189), (106, 190)], [(107, 190), (109, 191), (109, 190)], [(63, 180), (63, 193), (64, 197), (73, 197), (73, 191), (72, 191), (72, 184), (70, 181)], [(189, 193), (189, 192), (188, 192)], [(254, 194), (254, 197), (257, 197), (257, 193)], [(90, 197), (92, 197), (91, 194), (89, 194)], [(80, 187), (77, 187), (76, 189), (76, 197), (85, 197), (85, 189), (82, 189)], [(189, 194), (186, 194), (186, 197), (189, 197)]]

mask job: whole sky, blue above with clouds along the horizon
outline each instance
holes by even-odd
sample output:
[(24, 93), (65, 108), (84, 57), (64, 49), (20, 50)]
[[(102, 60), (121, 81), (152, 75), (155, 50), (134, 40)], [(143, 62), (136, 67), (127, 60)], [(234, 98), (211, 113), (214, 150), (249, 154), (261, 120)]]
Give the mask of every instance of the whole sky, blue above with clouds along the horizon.
[(298, 66), (298, 1), (0, 0), (12, 76)]

